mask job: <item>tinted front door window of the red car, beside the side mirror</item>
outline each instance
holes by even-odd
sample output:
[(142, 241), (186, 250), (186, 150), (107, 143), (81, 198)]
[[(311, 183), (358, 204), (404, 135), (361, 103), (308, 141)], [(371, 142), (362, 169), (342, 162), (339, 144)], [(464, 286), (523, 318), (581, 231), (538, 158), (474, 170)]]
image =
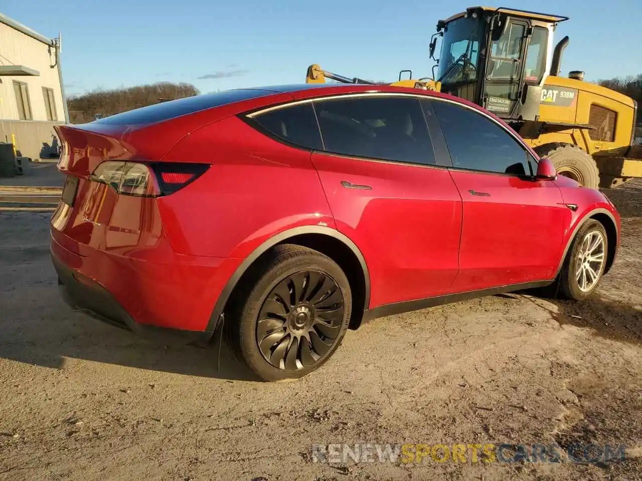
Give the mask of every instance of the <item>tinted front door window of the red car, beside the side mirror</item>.
[(496, 122), (469, 108), (433, 101), (453, 167), (474, 171), (532, 175), (525, 149)]

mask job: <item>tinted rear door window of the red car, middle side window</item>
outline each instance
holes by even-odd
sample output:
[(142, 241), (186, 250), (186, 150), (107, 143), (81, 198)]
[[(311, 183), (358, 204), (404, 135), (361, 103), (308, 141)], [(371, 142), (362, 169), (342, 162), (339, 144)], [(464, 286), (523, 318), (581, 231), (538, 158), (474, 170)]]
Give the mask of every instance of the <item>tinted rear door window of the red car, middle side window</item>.
[(315, 109), (326, 151), (435, 164), (419, 99), (360, 96), (318, 101)]

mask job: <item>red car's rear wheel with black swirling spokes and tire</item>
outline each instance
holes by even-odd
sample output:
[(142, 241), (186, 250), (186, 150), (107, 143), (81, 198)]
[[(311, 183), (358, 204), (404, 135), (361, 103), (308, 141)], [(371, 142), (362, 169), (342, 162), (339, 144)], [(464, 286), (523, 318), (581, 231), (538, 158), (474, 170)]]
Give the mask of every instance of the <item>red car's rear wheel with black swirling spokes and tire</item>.
[(322, 366), (347, 331), (352, 294), (331, 258), (295, 245), (271, 249), (231, 309), (232, 350), (261, 379), (301, 378)]

